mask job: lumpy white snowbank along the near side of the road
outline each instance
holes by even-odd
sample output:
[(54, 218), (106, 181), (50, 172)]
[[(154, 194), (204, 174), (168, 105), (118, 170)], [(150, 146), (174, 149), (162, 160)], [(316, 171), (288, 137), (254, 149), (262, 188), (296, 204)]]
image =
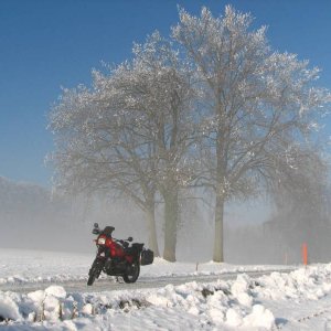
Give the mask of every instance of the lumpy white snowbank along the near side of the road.
[(63, 287), (51, 286), (28, 295), (0, 292), (0, 325), (14, 330), (271, 330), (279, 317), (266, 302), (318, 301), (331, 292), (330, 280), (331, 264), (257, 279), (239, 275), (236, 280), (161, 289), (67, 293)]

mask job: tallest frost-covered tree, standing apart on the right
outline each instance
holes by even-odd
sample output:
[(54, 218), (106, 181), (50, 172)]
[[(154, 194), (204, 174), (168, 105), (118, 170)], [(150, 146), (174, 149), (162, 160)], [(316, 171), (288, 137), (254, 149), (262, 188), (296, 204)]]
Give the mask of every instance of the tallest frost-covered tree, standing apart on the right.
[(203, 8), (201, 17), (181, 10), (172, 30), (204, 95), (207, 175), (201, 183), (215, 193), (215, 261), (223, 260), (225, 202), (257, 193), (276, 171), (299, 167), (296, 146), (308, 143), (314, 118), (330, 98), (312, 86), (318, 68), (293, 54), (273, 52), (266, 28), (250, 25), (250, 14), (232, 7), (218, 18)]

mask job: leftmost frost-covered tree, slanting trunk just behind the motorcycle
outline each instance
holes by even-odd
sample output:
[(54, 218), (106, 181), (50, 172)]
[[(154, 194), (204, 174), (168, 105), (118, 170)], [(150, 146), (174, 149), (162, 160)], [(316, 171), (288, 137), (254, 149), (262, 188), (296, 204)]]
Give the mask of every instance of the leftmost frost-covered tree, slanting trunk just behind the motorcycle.
[[(143, 121), (130, 107), (139, 89), (135, 72), (124, 64), (104, 75), (93, 73), (90, 89), (65, 89), (51, 114), (55, 135), (55, 184), (73, 193), (109, 194), (130, 199), (146, 213), (149, 246), (159, 256), (154, 221), (154, 148), (136, 128)], [(130, 92), (130, 93), (129, 93)]]

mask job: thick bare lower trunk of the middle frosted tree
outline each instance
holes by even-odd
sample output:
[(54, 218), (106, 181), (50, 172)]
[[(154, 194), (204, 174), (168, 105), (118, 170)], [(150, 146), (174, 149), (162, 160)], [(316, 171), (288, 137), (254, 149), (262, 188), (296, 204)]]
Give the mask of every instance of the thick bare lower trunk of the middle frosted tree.
[(163, 258), (175, 261), (177, 227), (179, 221), (178, 192), (167, 193), (164, 197), (164, 252)]

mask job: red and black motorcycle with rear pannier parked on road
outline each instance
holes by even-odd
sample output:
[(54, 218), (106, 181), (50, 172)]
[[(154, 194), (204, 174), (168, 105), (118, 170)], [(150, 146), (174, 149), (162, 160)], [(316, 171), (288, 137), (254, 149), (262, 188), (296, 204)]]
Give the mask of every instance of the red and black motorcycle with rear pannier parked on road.
[(140, 274), (140, 266), (153, 263), (153, 252), (143, 248), (143, 244), (130, 243), (132, 237), (116, 239), (113, 237), (114, 226), (99, 228), (94, 224), (93, 234), (98, 235), (95, 239), (97, 255), (88, 271), (87, 285), (90, 286), (99, 278), (102, 271), (109, 276), (120, 276), (125, 282), (135, 282)]

